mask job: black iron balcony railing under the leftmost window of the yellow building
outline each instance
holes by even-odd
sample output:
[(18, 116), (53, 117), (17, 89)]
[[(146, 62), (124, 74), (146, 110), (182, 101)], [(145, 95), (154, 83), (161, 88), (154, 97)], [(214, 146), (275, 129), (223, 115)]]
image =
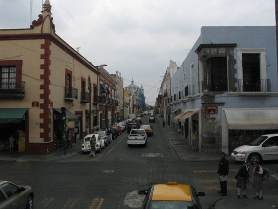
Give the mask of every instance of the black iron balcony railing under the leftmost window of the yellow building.
[(25, 82), (1, 82), (0, 83), (0, 99), (4, 98), (24, 98)]

